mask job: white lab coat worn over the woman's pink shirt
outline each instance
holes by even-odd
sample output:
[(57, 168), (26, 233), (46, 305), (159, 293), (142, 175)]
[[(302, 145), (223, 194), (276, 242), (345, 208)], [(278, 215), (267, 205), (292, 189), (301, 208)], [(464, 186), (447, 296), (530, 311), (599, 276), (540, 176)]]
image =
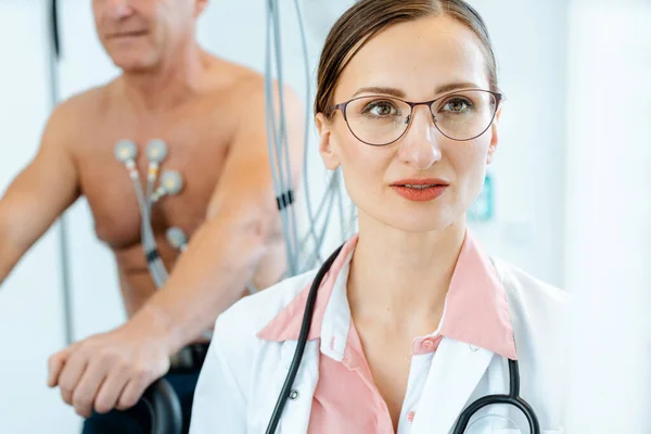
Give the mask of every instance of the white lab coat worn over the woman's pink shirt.
[[(536, 411), (542, 433), (563, 433), (567, 352), (562, 337), (567, 296), (506, 261), (495, 259), (494, 263), (507, 292), (520, 362), (521, 396)], [(256, 337), (256, 333), (315, 276), (316, 270), (285, 280), (240, 301), (217, 319), (194, 395), (191, 434), (265, 433), (296, 341), (270, 342)], [(319, 340), (308, 341), (293, 385), (298, 397), (288, 401), (277, 434), (307, 433), (319, 378), (320, 352), (328, 352), (328, 345), (320, 346)], [(507, 394), (508, 388), (509, 371), (503, 357), (444, 337), (433, 358), (409, 433), (448, 434), (468, 404), (487, 394)], [(490, 411), (513, 419), (522, 432), (528, 433), (526, 421), (518, 410), (494, 406), (484, 413)], [(501, 430), (493, 425), (478, 429), (481, 423), (468, 432), (520, 432), (505, 429), (509, 425)]]

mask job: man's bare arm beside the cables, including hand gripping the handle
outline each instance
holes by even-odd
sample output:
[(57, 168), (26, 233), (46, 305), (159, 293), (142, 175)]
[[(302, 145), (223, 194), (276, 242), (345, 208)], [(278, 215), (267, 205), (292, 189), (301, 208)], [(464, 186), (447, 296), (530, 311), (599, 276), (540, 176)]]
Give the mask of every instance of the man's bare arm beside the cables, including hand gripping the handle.
[[(285, 92), (293, 179), (303, 164), (304, 113)], [(205, 222), (192, 235), (166, 284), (124, 326), (53, 355), (48, 385), (88, 417), (138, 403), (169, 369), (169, 357), (212, 328), (242, 294), (266, 253), (279, 212), (267, 148), (265, 88), (250, 84), (233, 115), (231, 143)]]

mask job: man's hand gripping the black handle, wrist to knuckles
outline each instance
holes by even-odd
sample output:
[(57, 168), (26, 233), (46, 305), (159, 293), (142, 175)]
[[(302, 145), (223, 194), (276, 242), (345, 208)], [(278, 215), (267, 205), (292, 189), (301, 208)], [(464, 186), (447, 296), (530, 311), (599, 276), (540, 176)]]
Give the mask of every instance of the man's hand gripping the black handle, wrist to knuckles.
[(156, 321), (136, 317), (108, 333), (77, 342), (50, 357), (48, 386), (88, 418), (135, 406), (169, 370), (169, 342)]

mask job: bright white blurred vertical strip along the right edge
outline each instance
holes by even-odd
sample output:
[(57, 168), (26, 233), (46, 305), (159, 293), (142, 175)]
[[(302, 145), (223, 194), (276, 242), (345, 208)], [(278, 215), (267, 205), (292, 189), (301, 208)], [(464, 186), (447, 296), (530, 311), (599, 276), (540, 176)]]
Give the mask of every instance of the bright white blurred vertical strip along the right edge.
[(649, 433), (651, 3), (571, 3), (565, 268), (579, 303), (569, 429)]

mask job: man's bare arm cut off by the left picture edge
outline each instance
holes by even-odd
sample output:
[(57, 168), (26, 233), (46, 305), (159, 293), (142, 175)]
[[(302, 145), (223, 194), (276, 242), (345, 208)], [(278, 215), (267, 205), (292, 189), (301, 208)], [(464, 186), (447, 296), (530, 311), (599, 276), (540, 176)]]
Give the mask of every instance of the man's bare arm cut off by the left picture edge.
[(31, 245), (79, 195), (67, 131), (71, 108), (59, 106), (35, 158), (0, 200), (0, 284)]

